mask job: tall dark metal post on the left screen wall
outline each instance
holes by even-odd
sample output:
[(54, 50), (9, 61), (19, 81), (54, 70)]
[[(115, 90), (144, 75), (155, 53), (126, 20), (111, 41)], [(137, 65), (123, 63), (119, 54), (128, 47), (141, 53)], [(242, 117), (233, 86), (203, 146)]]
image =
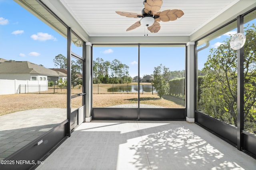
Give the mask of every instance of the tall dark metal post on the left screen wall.
[[(67, 28), (67, 119), (68, 119), (68, 136), (71, 136), (70, 114), (71, 114), (71, 28)], [(54, 85), (55, 92), (55, 85)]]

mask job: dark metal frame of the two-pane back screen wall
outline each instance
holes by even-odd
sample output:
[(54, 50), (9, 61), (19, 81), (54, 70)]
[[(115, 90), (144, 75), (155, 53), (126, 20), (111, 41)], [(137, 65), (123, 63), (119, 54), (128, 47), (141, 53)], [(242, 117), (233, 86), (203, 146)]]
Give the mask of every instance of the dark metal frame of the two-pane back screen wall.
[[(187, 87), (187, 47), (186, 43), (132, 43), (132, 44), (92, 44), (94, 45), (104, 45), (104, 46), (114, 46), (114, 45), (134, 45), (138, 47), (138, 78), (140, 77), (140, 46), (142, 45), (182, 45), (184, 46), (185, 53), (185, 93)], [(92, 61), (93, 61), (93, 51), (92, 51)], [(93, 74), (93, 72), (91, 73)], [(92, 76), (92, 75), (91, 75)], [(92, 84), (91, 84), (92, 86)], [(138, 87), (140, 87), (140, 81), (138, 81)], [(91, 93), (93, 90), (91, 91)], [(93, 100), (93, 99), (92, 99)], [(138, 107), (134, 108), (106, 108), (106, 107), (92, 107), (92, 119), (93, 120), (186, 120), (186, 103), (187, 98), (185, 94), (185, 108), (140, 108), (140, 88), (138, 88)], [(159, 115), (156, 115), (156, 111)], [(122, 113), (119, 114), (119, 113)], [(126, 114), (127, 113), (127, 114)], [(128, 115), (128, 113), (130, 115)], [(110, 114), (110, 115), (108, 115)]]

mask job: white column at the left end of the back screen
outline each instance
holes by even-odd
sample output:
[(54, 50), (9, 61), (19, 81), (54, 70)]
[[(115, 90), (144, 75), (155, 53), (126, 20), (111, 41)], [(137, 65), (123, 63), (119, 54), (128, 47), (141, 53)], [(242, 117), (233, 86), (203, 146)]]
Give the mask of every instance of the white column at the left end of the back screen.
[(86, 104), (85, 104), (85, 121), (92, 120), (92, 43), (86, 42)]

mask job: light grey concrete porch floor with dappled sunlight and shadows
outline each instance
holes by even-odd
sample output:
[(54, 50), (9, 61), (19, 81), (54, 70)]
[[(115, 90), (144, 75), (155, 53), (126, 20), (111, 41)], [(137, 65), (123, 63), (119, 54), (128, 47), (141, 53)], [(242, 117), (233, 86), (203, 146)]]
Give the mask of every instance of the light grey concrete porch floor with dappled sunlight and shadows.
[(37, 170), (256, 170), (256, 160), (186, 121), (82, 123)]

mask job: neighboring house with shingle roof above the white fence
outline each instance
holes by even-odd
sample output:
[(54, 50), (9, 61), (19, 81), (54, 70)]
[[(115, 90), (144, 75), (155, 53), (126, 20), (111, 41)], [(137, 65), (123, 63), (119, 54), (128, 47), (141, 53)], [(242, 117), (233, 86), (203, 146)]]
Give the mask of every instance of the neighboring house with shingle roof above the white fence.
[(0, 59), (0, 79), (6, 80), (39, 80), (58, 81), (59, 77), (67, 77), (60, 73), (30, 63), (29, 61), (8, 61)]

